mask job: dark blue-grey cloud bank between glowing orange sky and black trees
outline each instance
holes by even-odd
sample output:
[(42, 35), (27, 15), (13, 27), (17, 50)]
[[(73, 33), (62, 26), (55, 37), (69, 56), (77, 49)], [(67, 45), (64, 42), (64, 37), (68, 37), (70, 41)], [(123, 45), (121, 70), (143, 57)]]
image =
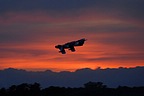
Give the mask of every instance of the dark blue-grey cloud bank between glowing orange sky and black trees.
[(21, 83), (40, 83), (42, 88), (48, 86), (83, 87), (83, 84), (103, 82), (108, 87), (118, 86), (144, 86), (144, 67), (100, 69), (79, 69), (75, 72), (28, 72), (25, 70), (5, 69), (0, 70), (1, 87), (10, 87)]

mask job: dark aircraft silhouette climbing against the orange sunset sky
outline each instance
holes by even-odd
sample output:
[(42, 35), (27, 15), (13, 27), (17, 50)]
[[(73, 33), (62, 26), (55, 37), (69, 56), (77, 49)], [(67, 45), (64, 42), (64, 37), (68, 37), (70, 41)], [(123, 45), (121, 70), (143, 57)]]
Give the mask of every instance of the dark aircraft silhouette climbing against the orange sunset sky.
[(65, 43), (63, 45), (56, 45), (55, 48), (58, 48), (60, 50), (59, 52), (62, 53), (62, 54), (66, 54), (65, 49), (69, 49), (72, 52), (75, 52), (74, 46), (83, 46), (85, 41), (86, 41), (86, 39), (83, 38), (83, 39), (80, 39), (80, 40), (77, 40), (77, 41), (72, 41), (72, 42)]

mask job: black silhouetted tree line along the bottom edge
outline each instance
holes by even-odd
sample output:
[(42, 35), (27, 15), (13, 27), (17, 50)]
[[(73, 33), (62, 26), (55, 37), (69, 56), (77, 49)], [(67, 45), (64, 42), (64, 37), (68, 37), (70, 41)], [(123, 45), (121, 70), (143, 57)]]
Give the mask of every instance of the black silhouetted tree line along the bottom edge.
[(108, 88), (102, 82), (90, 81), (79, 88), (50, 86), (42, 89), (39, 83), (23, 83), (1, 88), (0, 96), (144, 96), (144, 86)]

